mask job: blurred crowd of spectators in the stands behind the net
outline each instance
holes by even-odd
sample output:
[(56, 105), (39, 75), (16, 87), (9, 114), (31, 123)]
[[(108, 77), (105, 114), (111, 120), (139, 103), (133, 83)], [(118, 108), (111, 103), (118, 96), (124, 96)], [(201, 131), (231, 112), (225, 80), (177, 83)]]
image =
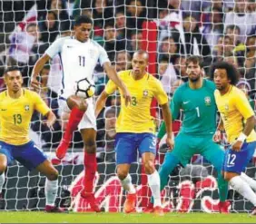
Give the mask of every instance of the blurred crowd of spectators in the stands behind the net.
[[(157, 73), (164, 90), (172, 98), (175, 89), (187, 82), (185, 69), (189, 55), (201, 55), (207, 78), (211, 63), (226, 61), (240, 72), (238, 83), (254, 109), (256, 3), (255, 0), (34, 0), (2, 1), (0, 4), (0, 88), (5, 89), (6, 65), (20, 66), (24, 85), (36, 60), (61, 36), (72, 35), (78, 15), (94, 20), (92, 39), (103, 45), (116, 71), (131, 69), (134, 51), (142, 48), (143, 22), (157, 25)], [(40, 91), (44, 101), (59, 118), (58, 92), (62, 66), (56, 56), (44, 67)], [(94, 72), (96, 96), (107, 82), (103, 68)], [(95, 96), (95, 97), (96, 97)], [(113, 94), (97, 125), (99, 161), (113, 162), (113, 140), (120, 96)], [(62, 137), (64, 122), (58, 119), (54, 131), (34, 113), (31, 136), (44, 149), (55, 149)], [(159, 126), (161, 113), (157, 112)], [(180, 122), (174, 122), (178, 130)], [(83, 148), (78, 132), (74, 148)]]

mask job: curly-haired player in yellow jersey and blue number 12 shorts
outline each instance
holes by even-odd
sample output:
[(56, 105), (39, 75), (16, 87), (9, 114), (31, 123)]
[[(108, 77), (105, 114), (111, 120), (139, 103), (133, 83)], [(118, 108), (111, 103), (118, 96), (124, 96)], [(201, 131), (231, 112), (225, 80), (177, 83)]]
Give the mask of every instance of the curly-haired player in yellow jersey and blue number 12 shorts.
[(224, 130), (231, 144), (223, 161), (224, 179), (230, 182), (234, 190), (251, 201), (254, 205), (251, 214), (256, 215), (256, 194), (252, 190), (255, 190), (255, 182), (244, 173), (241, 174), (251, 161), (256, 147), (254, 112), (245, 94), (235, 86), (239, 73), (232, 64), (213, 63), (211, 77), (216, 84), (214, 97), (221, 113), (221, 122), (213, 139), (218, 141)]

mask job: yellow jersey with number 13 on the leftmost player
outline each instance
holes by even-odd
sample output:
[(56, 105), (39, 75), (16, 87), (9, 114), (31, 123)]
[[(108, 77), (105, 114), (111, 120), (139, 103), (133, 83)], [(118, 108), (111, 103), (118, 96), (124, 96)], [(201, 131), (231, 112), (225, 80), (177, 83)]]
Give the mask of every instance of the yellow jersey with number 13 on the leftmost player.
[(0, 93), (0, 141), (12, 145), (30, 141), (29, 125), (34, 110), (43, 115), (50, 111), (37, 93), (23, 89), (17, 99), (11, 98), (7, 91)]

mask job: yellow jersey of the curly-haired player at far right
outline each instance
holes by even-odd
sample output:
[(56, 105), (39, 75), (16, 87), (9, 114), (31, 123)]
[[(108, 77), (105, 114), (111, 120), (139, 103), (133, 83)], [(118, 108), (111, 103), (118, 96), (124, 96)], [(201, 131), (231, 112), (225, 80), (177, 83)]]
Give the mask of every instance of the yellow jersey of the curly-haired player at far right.
[[(231, 85), (229, 92), (224, 95), (221, 95), (219, 90), (215, 90), (214, 96), (218, 110), (221, 113), (228, 141), (232, 143), (243, 131), (246, 120), (254, 116), (254, 112), (246, 95), (233, 85)], [(246, 141), (256, 141), (254, 130), (251, 131)]]

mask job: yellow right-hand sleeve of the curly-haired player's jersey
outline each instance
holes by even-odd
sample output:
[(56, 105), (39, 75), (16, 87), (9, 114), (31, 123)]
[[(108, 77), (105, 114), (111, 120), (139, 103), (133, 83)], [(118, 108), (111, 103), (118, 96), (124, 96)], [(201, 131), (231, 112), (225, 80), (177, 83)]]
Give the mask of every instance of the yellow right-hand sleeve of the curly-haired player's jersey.
[(254, 116), (251, 105), (244, 93), (239, 92), (235, 94), (232, 101), (235, 104), (236, 109), (241, 113), (244, 119), (248, 119), (251, 116)]

